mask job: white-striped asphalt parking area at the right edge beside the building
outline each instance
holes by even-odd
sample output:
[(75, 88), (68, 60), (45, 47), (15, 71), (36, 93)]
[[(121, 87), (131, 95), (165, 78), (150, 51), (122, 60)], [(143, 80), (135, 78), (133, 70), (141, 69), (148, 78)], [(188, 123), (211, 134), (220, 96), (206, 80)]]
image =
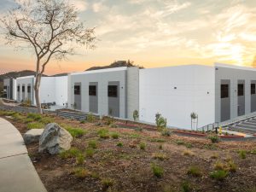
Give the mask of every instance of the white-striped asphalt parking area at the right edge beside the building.
[(243, 119), (236, 123), (224, 126), (224, 129), (241, 131), (248, 134), (256, 134), (256, 117)]

